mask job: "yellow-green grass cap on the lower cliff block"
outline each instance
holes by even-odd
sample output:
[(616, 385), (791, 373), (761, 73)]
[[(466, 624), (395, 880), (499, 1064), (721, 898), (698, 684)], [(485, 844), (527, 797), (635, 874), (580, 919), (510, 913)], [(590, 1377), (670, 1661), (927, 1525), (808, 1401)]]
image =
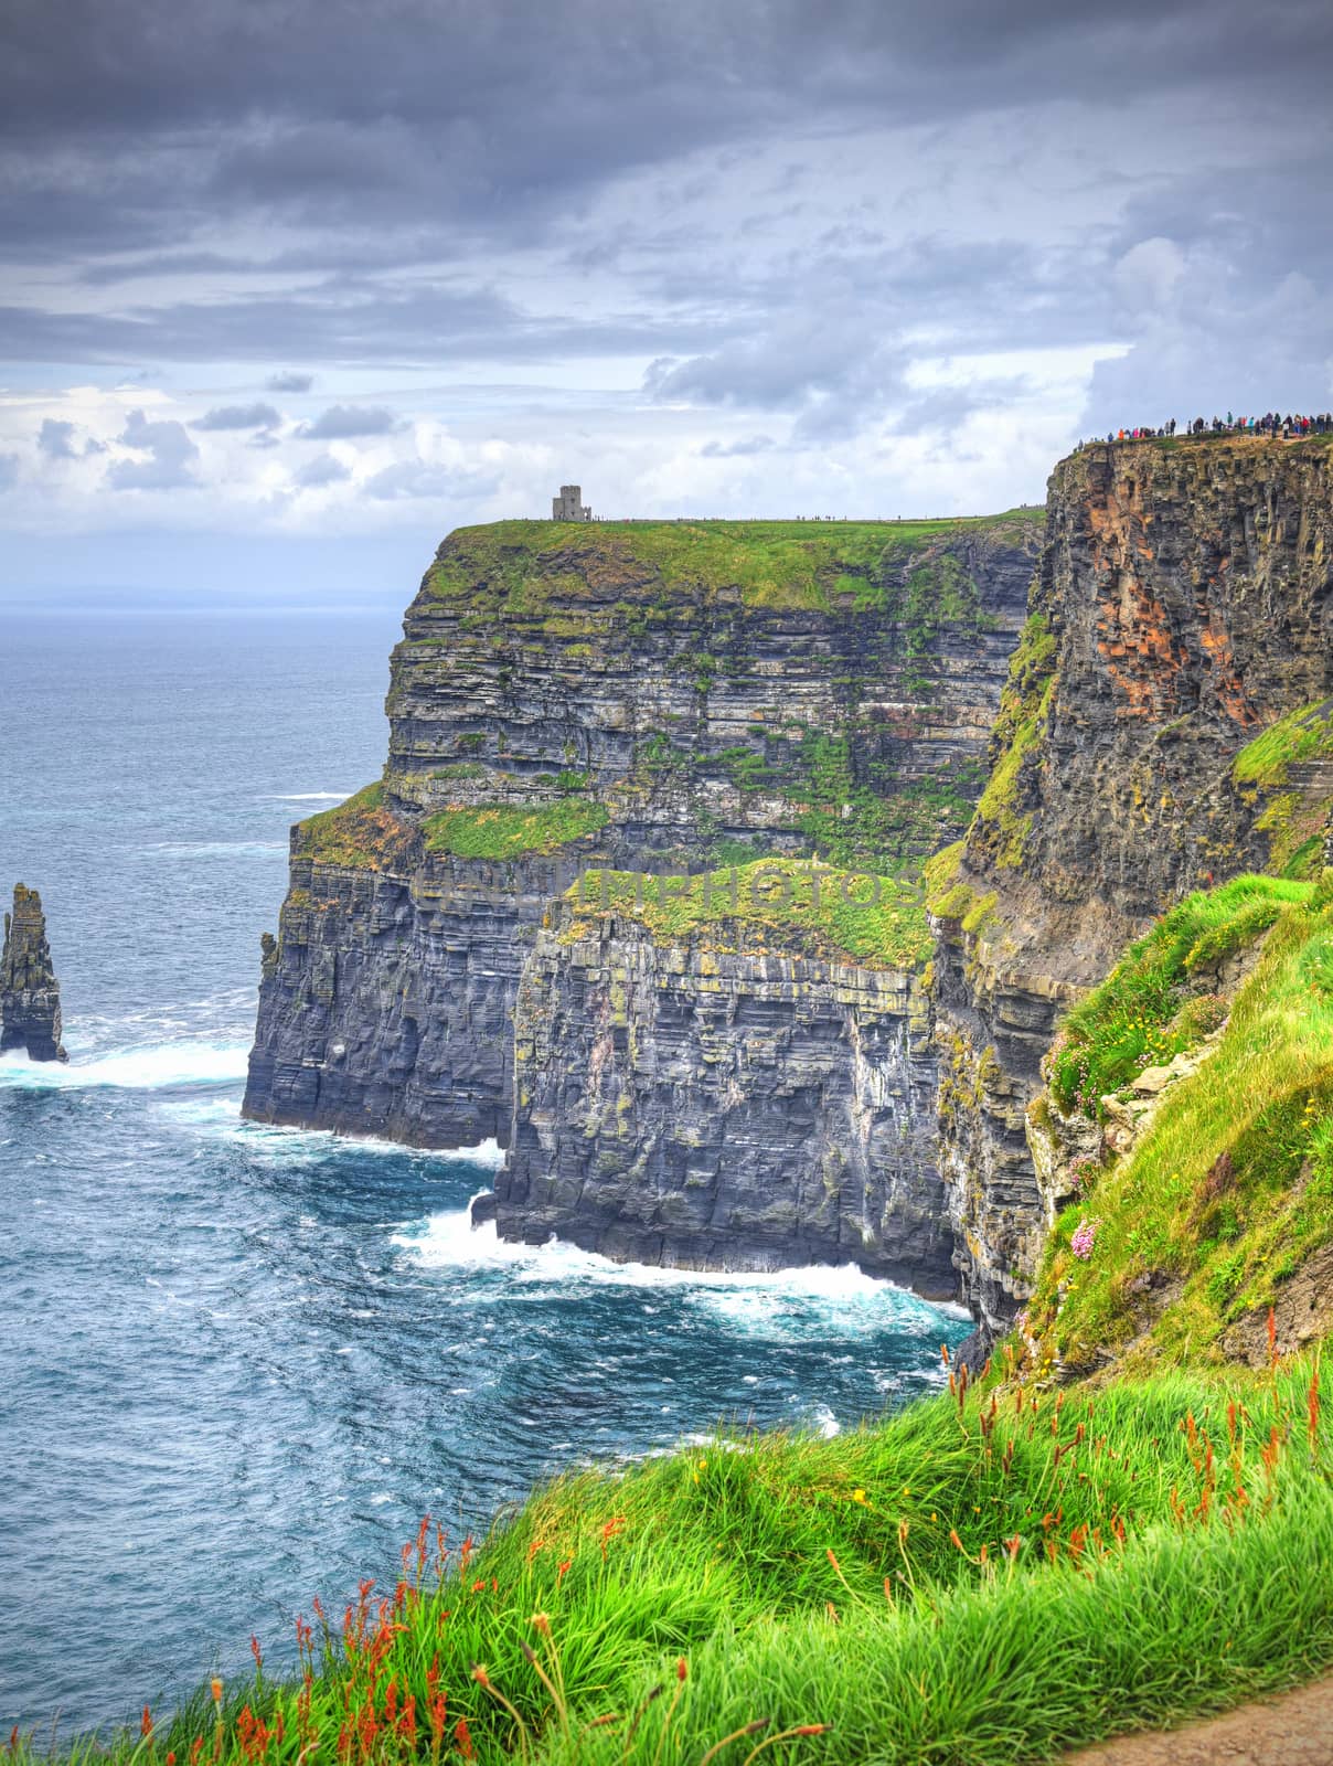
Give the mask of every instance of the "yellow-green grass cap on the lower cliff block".
[(696, 941), (747, 950), (802, 950), (832, 961), (855, 957), (872, 968), (918, 970), (930, 955), (915, 876), (870, 876), (795, 858), (763, 858), (696, 878), (641, 883), (634, 872), (590, 872), (570, 890), (581, 920), (609, 911), (639, 920), (659, 943)]

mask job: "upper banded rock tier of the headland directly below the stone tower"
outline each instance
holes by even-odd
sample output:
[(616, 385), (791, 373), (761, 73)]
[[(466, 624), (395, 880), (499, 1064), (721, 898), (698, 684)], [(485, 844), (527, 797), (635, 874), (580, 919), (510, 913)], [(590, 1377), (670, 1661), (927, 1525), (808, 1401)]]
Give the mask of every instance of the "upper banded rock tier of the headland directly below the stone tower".
[(860, 551), (810, 525), (772, 562), (766, 523), (531, 528), (450, 535), (408, 609), (385, 774), (404, 812), (572, 786), (629, 864), (803, 849), (856, 791), (881, 842), (929, 851), (975, 796), (1035, 517), (883, 525)]

